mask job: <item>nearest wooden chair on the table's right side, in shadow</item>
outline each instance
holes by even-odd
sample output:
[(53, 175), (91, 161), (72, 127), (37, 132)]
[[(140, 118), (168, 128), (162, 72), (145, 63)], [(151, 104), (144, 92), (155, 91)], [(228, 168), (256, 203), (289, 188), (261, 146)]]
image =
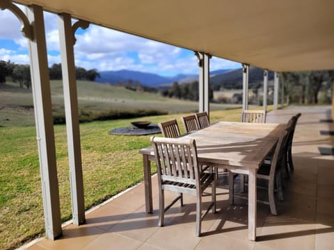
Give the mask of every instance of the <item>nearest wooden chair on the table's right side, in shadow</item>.
[[(285, 163), (285, 147), (287, 144), (287, 130), (284, 130), (278, 143), (276, 144), (276, 149), (273, 153), (273, 159), (270, 164), (263, 163), (257, 170), (256, 178), (268, 181), (268, 198), (269, 201), (260, 201), (262, 203), (269, 204), (271, 214), (277, 215), (276, 203), (274, 191), (275, 187), (278, 194), (278, 199), (280, 201), (284, 200), (283, 188), (282, 188), (282, 168), (281, 166)], [(230, 203), (234, 201), (234, 174), (229, 175), (229, 185), (230, 185)]]

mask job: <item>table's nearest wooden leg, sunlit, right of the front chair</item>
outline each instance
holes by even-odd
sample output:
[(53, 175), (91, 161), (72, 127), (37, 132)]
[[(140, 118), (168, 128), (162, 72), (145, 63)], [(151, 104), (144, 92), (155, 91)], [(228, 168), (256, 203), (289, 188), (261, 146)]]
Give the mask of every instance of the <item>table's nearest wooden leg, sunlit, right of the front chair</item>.
[(256, 240), (256, 169), (249, 169), (248, 175), (248, 238)]

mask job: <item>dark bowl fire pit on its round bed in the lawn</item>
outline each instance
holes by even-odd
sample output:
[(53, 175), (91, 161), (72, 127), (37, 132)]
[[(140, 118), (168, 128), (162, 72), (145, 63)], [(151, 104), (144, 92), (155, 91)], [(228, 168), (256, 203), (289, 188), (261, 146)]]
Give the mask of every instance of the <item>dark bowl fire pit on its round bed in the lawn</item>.
[(151, 122), (140, 121), (132, 122), (131, 124), (132, 126), (114, 128), (109, 133), (112, 135), (151, 135), (161, 133), (159, 126), (151, 124)]

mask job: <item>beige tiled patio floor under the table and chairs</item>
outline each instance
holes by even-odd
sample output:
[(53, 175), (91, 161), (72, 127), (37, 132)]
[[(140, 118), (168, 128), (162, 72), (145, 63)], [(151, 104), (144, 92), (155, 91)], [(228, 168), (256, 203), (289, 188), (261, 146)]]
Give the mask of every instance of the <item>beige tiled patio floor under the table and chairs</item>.
[[(35, 249), (334, 249), (334, 156), (321, 156), (318, 147), (334, 147), (328, 107), (289, 107), (269, 113), (267, 122), (287, 122), (302, 113), (293, 144), (294, 173), (285, 181), (285, 201), (278, 202), (278, 216), (269, 206), (257, 205), (257, 241), (248, 240), (246, 201), (228, 205), (228, 189), (220, 173), (218, 209), (202, 223), (203, 236), (195, 236), (196, 206), (185, 197), (166, 215), (166, 226), (157, 226), (157, 185), (153, 188), (154, 213), (145, 213), (143, 184), (105, 203), (87, 215), (82, 226), (70, 224), (63, 237), (40, 240)], [(152, 183), (157, 184), (154, 177)], [(174, 194), (173, 194), (174, 195)], [(172, 194), (166, 194), (171, 200)], [(209, 199), (209, 197), (205, 197)]]

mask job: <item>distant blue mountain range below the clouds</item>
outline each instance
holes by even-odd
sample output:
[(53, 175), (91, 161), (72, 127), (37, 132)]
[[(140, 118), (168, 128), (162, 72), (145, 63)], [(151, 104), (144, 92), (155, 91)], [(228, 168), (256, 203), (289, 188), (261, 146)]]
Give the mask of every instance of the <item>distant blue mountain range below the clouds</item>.
[[(230, 71), (230, 69), (219, 69), (210, 72), (210, 74), (216, 75), (228, 71)], [(154, 88), (167, 88), (168, 86), (171, 86), (175, 81), (177, 81), (178, 83), (191, 83), (192, 81), (198, 80), (197, 74), (177, 74), (176, 76), (160, 76), (158, 74), (136, 72), (127, 69), (99, 72), (99, 74), (100, 78), (95, 79), (95, 81), (99, 83), (116, 84), (120, 81), (127, 82), (131, 79), (134, 82), (138, 81), (142, 85)]]

